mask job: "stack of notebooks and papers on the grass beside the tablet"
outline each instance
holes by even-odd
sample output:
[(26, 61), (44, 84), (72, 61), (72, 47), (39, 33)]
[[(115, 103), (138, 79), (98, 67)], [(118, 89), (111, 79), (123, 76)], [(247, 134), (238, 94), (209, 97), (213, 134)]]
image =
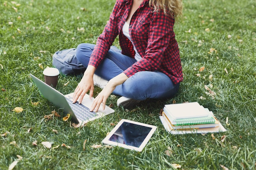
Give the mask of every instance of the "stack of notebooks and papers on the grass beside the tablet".
[(172, 134), (226, 131), (213, 113), (198, 102), (165, 105), (159, 117)]

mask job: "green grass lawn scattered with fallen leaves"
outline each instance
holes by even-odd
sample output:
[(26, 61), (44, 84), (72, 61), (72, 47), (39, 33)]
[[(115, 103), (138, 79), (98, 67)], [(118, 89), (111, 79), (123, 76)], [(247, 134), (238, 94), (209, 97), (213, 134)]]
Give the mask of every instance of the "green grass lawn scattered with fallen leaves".
[[(0, 169), (8, 169), (18, 159), (16, 155), (22, 157), (14, 168), (17, 170), (166, 170), (174, 169), (172, 163), (180, 164), (184, 170), (222, 169), (220, 165), (229, 170), (256, 169), (255, 0), (184, 1), (184, 16), (174, 28), (184, 82), (173, 99), (124, 110), (116, 105), (118, 97), (111, 96), (108, 104), (114, 104), (115, 113), (83, 128), (70, 127), (70, 122), (62, 120), (65, 115), (44, 119), (44, 115), (58, 108), (40, 96), (29, 73), (43, 79), (43, 69), (38, 64), (52, 66), (54, 52), (75, 48), (82, 42), (95, 43), (114, 3), (115, 0), (0, 1), (0, 88), (5, 89), (0, 91), (0, 134), (9, 132), (0, 137)], [(79, 31), (81, 28), (84, 31)], [(118, 46), (118, 41), (114, 44)], [(205, 69), (200, 72), (202, 66)], [(79, 80), (80, 77), (61, 75), (57, 89), (71, 93)], [(69, 84), (63, 86), (66, 82)], [(206, 93), (205, 85), (216, 93), (214, 97)], [(158, 113), (164, 104), (174, 101), (199, 102), (213, 111), (227, 132), (215, 133), (216, 139), (211, 134), (169, 135)], [(34, 106), (31, 102), (39, 104)], [(15, 113), (15, 107), (24, 110)], [(101, 144), (114, 127), (112, 123), (117, 124), (120, 119), (157, 126), (146, 148), (142, 152), (119, 147), (92, 148), (93, 144)], [(223, 135), (227, 136), (224, 142), (220, 140)], [(33, 141), (38, 146), (33, 146)], [(52, 142), (52, 147), (66, 144), (71, 148), (47, 149), (42, 141)], [(166, 154), (168, 148), (170, 155)]]

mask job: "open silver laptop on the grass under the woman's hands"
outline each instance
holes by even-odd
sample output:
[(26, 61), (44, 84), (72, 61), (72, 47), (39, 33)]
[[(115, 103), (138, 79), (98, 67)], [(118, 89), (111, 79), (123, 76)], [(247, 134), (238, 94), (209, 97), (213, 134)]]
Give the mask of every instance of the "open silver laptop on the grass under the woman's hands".
[(70, 114), (72, 121), (80, 124), (81, 126), (83, 126), (88, 121), (92, 121), (94, 119), (98, 119), (100, 117), (115, 112), (115, 110), (108, 106), (105, 107), (105, 110), (103, 110), (102, 106), (100, 106), (98, 112), (90, 112), (90, 107), (92, 106), (94, 99), (90, 99), (88, 94), (83, 97), (83, 101), (81, 102), (81, 104), (78, 104), (78, 102), (73, 104), (73, 93), (63, 95), (62, 93), (47, 85), (45, 82), (41, 81), (34, 75), (29, 75), (33, 79), (34, 83), (38, 87), (43, 97), (52, 102), (52, 104), (63, 109), (63, 112), (65, 114)]

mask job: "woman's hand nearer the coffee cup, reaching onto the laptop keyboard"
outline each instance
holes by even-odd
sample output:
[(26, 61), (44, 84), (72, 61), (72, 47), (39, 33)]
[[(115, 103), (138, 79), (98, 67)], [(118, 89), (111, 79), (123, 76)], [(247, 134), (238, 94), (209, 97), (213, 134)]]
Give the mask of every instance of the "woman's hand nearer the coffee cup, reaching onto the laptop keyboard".
[(92, 98), (94, 91), (93, 74), (95, 70), (96, 68), (90, 65), (86, 68), (83, 78), (74, 91), (72, 103), (75, 103), (79, 99), (79, 104), (81, 104), (83, 97), (88, 91), (90, 91), (90, 99)]

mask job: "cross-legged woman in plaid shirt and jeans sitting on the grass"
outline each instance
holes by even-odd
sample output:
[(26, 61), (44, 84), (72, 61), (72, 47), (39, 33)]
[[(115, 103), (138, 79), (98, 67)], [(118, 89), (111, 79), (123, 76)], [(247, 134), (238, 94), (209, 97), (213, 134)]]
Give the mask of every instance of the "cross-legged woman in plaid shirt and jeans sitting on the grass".
[[(182, 14), (182, 0), (117, 0), (96, 45), (79, 44), (77, 59), (87, 67), (74, 91), (83, 100), (94, 84), (103, 88), (91, 111), (98, 111), (111, 93), (118, 106), (130, 108), (145, 99), (171, 98), (183, 80), (173, 25)], [(119, 35), (121, 51), (112, 46)], [(110, 48), (111, 47), (111, 48)]]

